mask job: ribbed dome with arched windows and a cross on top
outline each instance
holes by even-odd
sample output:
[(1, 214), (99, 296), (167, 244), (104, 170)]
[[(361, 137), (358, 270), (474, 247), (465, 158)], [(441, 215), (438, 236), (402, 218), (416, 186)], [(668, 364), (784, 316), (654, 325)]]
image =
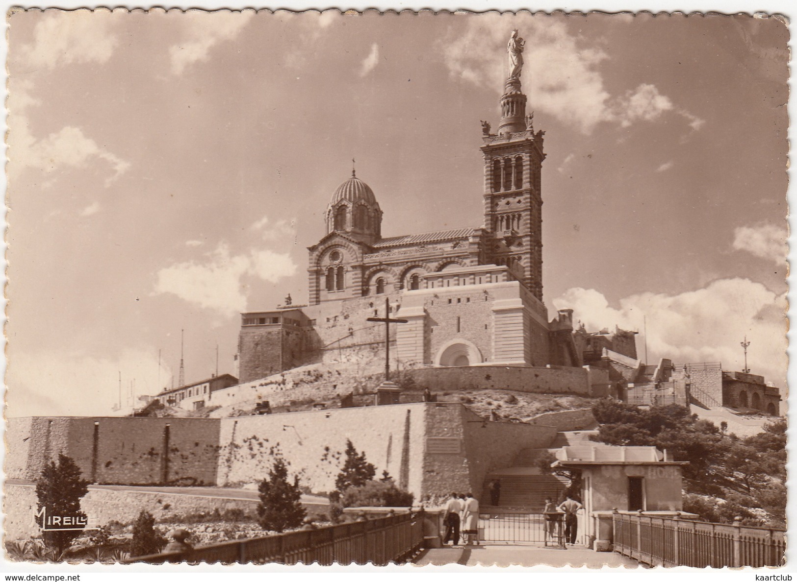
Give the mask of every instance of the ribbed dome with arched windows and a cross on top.
[(340, 231), (361, 240), (376, 240), (382, 232), (382, 210), (371, 186), (351, 178), (338, 186), (327, 207), (327, 232)]

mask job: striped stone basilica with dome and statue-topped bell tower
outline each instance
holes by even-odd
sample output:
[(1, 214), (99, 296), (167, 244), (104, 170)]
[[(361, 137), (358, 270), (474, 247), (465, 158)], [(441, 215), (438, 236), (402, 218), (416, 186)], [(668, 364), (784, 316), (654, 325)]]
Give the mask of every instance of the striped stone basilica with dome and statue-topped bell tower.
[[(481, 122), (481, 225), (384, 238), (377, 196), (352, 170), (329, 201), (327, 234), (308, 249), (307, 303), (241, 314), (241, 382), (384, 350), (384, 326), (367, 319), (383, 315), (386, 298), (387, 315), (406, 320), (389, 337), (398, 368), (585, 363), (595, 338), (574, 331), (570, 310), (549, 321), (543, 303), (545, 132), (527, 115), (513, 39), (501, 120), (495, 131)], [(616, 336), (614, 346), (604, 334), (604, 347), (636, 357), (633, 334)]]

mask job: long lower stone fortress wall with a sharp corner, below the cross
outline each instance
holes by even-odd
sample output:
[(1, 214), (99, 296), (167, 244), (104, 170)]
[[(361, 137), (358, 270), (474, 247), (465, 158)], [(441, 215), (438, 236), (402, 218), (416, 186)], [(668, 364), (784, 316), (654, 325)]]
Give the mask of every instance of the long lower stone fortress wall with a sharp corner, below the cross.
[(290, 473), (319, 493), (334, 490), (351, 439), (377, 478), (387, 470), (421, 500), (481, 492), (485, 475), (508, 467), (520, 449), (548, 446), (562, 429), (553, 424), (490, 422), (453, 403), (225, 419), (12, 418), (5, 471), (32, 481), (63, 452), (96, 483), (241, 486), (264, 478), (282, 455)]

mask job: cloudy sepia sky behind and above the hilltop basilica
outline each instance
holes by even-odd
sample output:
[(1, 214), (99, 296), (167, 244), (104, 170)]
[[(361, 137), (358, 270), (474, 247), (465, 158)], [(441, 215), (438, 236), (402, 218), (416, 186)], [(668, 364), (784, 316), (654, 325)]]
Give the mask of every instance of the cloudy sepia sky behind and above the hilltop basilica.
[(787, 369), (787, 29), (746, 16), (30, 11), (10, 17), (7, 416), (234, 371), (307, 296), (351, 174), (383, 236), (480, 226), (512, 29), (544, 299), (655, 363)]

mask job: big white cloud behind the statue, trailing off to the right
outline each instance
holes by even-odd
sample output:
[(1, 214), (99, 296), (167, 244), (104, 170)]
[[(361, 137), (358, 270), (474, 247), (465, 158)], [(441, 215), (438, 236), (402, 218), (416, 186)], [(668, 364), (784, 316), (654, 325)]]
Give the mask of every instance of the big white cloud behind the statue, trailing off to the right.
[[(522, 29), (527, 39), (522, 80), (529, 103), (537, 110), (590, 133), (598, 123), (628, 127), (655, 121), (674, 109), (672, 101), (651, 84), (611, 96), (598, 70), (598, 64), (609, 58), (603, 49), (583, 45), (561, 22), (522, 14), (511, 19), (481, 14), (467, 21), (463, 33), (457, 30), (456, 36), (443, 39), (440, 53), (450, 76), (501, 88), (507, 64), (497, 61), (496, 54), (505, 49), (512, 28)], [(689, 115), (692, 123), (701, 122), (688, 112), (681, 115)]]

